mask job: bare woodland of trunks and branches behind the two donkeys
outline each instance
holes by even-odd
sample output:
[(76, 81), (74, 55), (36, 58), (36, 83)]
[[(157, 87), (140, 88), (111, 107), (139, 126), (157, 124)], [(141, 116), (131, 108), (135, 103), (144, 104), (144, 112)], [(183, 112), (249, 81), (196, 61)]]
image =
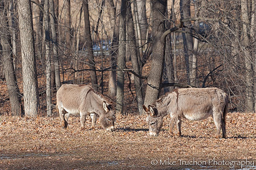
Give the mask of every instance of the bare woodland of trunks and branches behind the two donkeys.
[(175, 87), (218, 87), (255, 112), (255, 0), (1, 0), (1, 114), (51, 116), (61, 84), (123, 114)]

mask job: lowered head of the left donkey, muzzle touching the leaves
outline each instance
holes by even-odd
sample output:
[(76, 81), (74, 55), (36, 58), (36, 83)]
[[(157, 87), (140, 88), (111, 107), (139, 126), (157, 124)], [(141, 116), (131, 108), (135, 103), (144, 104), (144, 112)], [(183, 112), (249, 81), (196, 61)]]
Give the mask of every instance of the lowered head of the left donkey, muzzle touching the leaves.
[(103, 101), (105, 113), (100, 115), (100, 124), (108, 131), (114, 131), (115, 112), (112, 109), (112, 104), (107, 104)]

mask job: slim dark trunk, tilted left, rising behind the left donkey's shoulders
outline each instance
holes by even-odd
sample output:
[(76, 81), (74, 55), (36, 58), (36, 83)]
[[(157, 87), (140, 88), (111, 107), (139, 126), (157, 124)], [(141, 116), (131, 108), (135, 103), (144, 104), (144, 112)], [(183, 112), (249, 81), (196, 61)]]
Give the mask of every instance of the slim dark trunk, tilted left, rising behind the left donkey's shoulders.
[(88, 0), (82, 1), (82, 7), (84, 8), (84, 23), (85, 23), (85, 46), (87, 48), (87, 54), (89, 58), (89, 68), (92, 69), (90, 71), (90, 79), (92, 82), (92, 86), (94, 90), (98, 91), (98, 80), (97, 80), (97, 74), (95, 70), (95, 62), (94, 62), (94, 56), (93, 56), (93, 48), (92, 48), (92, 36), (90, 33), (90, 20), (89, 20), (89, 8), (88, 8)]

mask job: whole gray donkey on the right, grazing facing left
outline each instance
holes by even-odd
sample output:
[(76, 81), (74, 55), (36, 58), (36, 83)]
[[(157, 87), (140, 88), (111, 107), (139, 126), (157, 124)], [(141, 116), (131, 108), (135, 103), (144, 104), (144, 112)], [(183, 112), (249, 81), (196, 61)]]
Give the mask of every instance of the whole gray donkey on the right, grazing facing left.
[(181, 117), (188, 120), (203, 120), (213, 117), (217, 127), (216, 138), (226, 138), (226, 114), (228, 113), (228, 95), (218, 88), (179, 88), (160, 97), (154, 104), (143, 105), (147, 113), (147, 124), (151, 136), (158, 136), (163, 126), (163, 117), (171, 116), (170, 134), (175, 124), (181, 135)]

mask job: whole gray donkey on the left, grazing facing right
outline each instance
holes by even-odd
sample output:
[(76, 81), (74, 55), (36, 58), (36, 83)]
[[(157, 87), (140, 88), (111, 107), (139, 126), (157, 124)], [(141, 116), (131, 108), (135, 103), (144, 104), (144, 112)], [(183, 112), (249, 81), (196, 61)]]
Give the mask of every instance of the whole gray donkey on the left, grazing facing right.
[(84, 129), (86, 115), (90, 115), (92, 128), (95, 128), (96, 114), (98, 114), (102, 127), (106, 130), (114, 130), (115, 112), (111, 109), (112, 104), (109, 104), (102, 95), (97, 94), (92, 87), (64, 84), (57, 91), (56, 98), (63, 128), (67, 128), (70, 114), (80, 114), (82, 129)]

